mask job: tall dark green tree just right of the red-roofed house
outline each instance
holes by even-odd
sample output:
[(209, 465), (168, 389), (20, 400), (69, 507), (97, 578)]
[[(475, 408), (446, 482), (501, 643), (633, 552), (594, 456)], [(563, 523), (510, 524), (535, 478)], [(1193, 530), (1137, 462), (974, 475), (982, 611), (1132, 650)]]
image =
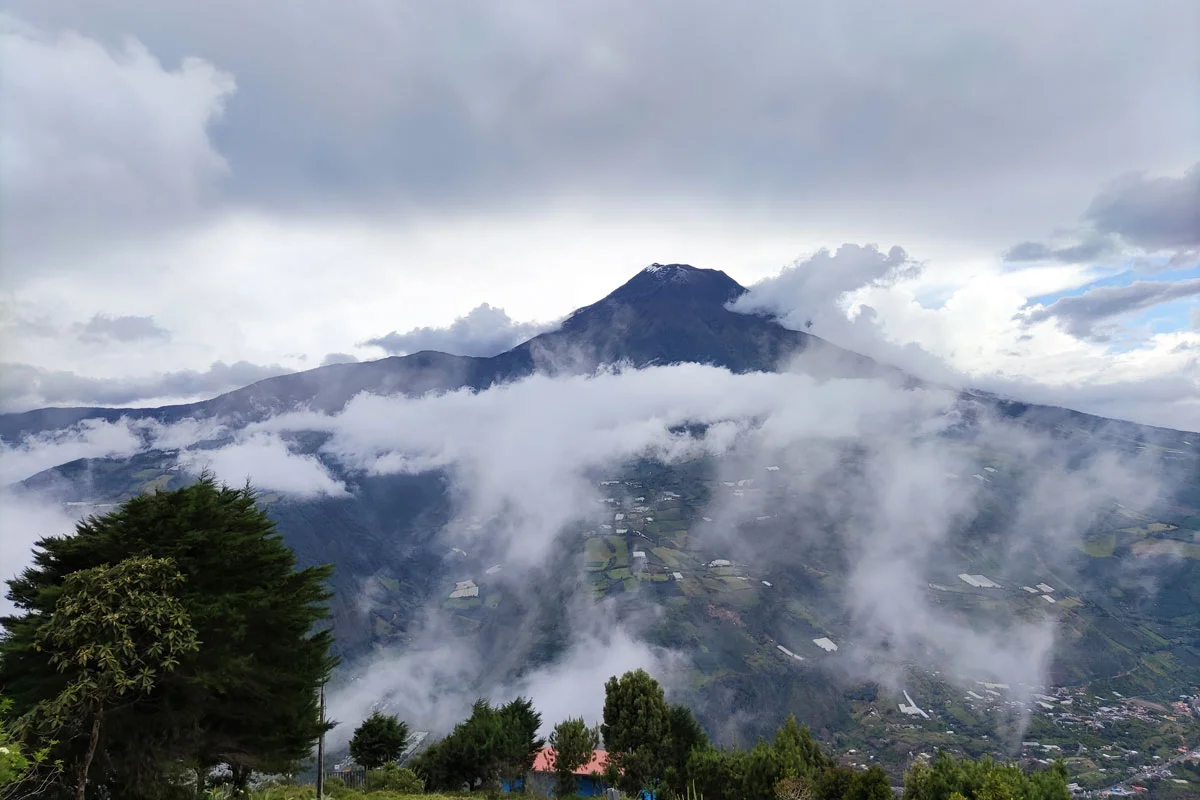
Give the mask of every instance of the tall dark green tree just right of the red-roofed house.
[(601, 732), (625, 793), (655, 787), (665, 766), (668, 729), (662, 687), (644, 669), (608, 679)]

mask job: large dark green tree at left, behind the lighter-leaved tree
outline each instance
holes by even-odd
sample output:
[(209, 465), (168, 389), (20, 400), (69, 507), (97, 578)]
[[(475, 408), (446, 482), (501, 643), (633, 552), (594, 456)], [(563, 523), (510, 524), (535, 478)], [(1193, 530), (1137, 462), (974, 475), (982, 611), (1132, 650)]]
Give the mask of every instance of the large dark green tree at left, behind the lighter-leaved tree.
[[(174, 561), (185, 578), (176, 597), (202, 644), (144, 697), (106, 711), (92, 783), (112, 796), (162, 798), (181, 763), (197, 775), (228, 764), (244, 784), (251, 769), (307, 757), (323, 724), (317, 687), (335, 663), (330, 633), (314, 632), (331, 567), (298, 571), (253, 489), (210, 476), (37, 543), (34, 566), (8, 582), (20, 613), (0, 619), (0, 687), (14, 711), (29, 714), (66, 686), (37, 642), (67, 576), (142, 557)], [(54, 756), (76, 762), (83, 747), (66, 741)]]

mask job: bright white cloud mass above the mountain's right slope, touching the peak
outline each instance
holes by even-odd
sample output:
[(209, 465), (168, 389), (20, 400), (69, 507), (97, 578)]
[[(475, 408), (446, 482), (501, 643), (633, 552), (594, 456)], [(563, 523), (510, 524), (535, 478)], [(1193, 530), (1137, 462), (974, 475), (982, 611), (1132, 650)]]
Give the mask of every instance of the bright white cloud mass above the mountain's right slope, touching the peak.
[(1030, 319), (1032, 297), (1086, 287), (1103, 272), (1012, 270), (996, 260), (922, 261), (918, 272), (894, 255), (857, 246), (818, 252), (752, 284), (733, 308), (769, 311), (788, 327), (942, 385), (1200, 431), (1200, 335), (1132, 332), (1132, 347), (1112, 350)]

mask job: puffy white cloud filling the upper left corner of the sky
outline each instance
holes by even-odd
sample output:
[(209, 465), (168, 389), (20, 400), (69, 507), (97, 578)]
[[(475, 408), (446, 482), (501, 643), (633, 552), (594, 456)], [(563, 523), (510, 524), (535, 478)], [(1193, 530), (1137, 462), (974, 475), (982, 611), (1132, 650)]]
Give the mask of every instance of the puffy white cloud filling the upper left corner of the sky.
[(0, 14), (0, 72), (8, 281), (40, 263), (36, 251), (61, 258), (191, 213), (226, 173), (209, 125), (234, 82), (204, 60), (172, 70), (133, 38), (109, 49)]

